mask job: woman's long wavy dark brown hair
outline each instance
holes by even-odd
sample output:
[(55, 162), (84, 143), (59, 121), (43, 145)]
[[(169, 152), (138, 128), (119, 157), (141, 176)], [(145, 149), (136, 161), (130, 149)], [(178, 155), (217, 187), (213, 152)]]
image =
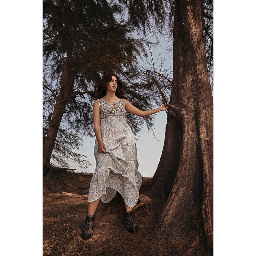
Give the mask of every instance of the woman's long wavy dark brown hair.
[[(114, 73), (109, 73), (109, 74), (106, 74), (104, 75), (101, 79), (100, 79), (100, 82), (98, 84), (98, 89), (95, 93), (95, 99), (100, 99), (102, 97), (104, 97), (107, 93), (107, 90), (106, 90), (106, 86), (107, 86), (107, 83), (109, 83), (112, 79), (112, 76), (116, 76), (116, 74)], [(116, 87), (116, 97), (118, 98), (123, 98), (123, 99), (126, 99), (128, 100), (125, 96), (124, 96), (124, 90), (123, 90), (123, 83), (122, 81), (119, 79), (118, 76), (116, 76), (116, 79), (117, 79), (117, 87)]]

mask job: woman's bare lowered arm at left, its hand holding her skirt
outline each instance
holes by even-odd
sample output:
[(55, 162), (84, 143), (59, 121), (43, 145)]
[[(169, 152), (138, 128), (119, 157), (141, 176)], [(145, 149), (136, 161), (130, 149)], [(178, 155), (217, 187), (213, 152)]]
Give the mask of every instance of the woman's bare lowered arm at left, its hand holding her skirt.
[(101, 139), (101, 133), (100, 133), (100, 105), (99, 101), (95, 100), (93, 103), (93, 126), (94, 126), (94, 133), (96, 136), (96, 139), (98, 141), (99, 147), (98, 151), (99, 153), (107, 153), (106, 147)]

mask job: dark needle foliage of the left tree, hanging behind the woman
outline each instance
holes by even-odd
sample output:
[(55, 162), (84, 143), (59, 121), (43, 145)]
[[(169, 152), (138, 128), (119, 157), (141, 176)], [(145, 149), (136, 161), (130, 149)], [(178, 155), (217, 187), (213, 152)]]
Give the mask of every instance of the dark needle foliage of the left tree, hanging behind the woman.
[[(64, 159), (72, 158), (79, 163), (84, 160), (75, 149), (81, 147), (82, 138), (94, 135), (92, 105), (103, 74), (122, 75), (118, 66), (136, 79), (137, 60), (147, 57), (145, 40), (132, 36), (134, 28), (121, 18), (122, 13), (120, 5), (106, 0), (43, 1), (44, 137), (60, 94), (60, 79), (67, 56), (72, 58), (70, 72), (75, 77), (73, 94), (65, 101), (66, 110), (58, 135), (52, 138), (56, 140), (52, 159), (60, 165), (67, 163)], [(131, 103), (141, 110), (153, 108), (154, 102), (147, 98), (150, 88), (142, 90), (124, 83), (124, 91)], [(134, 133), (144, 124), (148, 129), (153, 126), (152, 116), (142, 118), (128, 114), (127, 117)], [(84, 161), (84, 166), (87, 164)]]

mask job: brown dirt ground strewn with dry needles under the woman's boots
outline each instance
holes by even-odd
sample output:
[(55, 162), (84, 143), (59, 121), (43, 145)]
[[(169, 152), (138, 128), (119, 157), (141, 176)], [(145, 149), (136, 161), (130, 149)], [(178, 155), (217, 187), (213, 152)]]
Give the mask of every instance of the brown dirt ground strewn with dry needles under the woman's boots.
[[(184, 243), (181, 237), (177, 237), (175, 241), (165, 241), (163, 236), (156, 236), (154, 233), (154, 223), (161, 214), (164, 202), (148, 197), (145, 187), (151, 178), (144, 177), (140, 197), (133, 212), (139, 231), (130, 233), (126, 230), (124, 200), (117, 194), (108, 204), (100, 201), (95, 213), (94, 234), (89, 240), (83, 240), (81, 231), (86, 219), (92, 174), (69, 173), (69, 176), (63, 180), (69, 186), (65, 189), (67, 192), (59, 194), (57, 179), (56, 183), (50, 183), (50, 192), (44, 192), (43, 195), (44, 256), (175, 256), (185, 255), (189, 250), (189, 243)], [(46, 179), (47, 175), (44, 183)], [(190, 255), (208, 254), (198, 248)]]

